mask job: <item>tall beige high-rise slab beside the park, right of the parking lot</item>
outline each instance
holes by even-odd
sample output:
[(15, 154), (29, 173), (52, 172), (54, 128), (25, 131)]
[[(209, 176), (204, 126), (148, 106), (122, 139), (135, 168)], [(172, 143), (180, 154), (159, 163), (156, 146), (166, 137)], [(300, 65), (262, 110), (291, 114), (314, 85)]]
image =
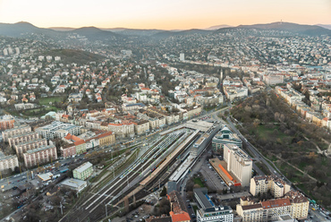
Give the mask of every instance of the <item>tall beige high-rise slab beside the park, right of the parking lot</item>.
[(227, 170), (240, 180), (242, 186), (249, 186), (252, 160), (248, 155), (236, 145), (225, 144), (224, 159), (227, 163)]

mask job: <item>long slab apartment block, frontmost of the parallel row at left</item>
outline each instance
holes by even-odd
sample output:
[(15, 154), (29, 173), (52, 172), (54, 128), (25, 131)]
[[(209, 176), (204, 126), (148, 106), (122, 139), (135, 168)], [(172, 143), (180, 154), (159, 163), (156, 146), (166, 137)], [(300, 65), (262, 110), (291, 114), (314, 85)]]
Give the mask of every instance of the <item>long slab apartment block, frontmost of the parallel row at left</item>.
[(27, 167), (38, 166), (57, 159), (56, 147), (53, 143), (39, 147), (38, 149), (30, 149), (23, 153), (24, 164)]

